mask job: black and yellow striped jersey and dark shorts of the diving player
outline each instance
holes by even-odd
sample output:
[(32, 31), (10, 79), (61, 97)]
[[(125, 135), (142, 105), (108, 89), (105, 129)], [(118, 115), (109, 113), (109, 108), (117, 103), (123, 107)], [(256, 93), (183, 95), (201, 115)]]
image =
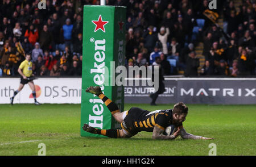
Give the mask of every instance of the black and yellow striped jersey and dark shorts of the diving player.
[(122, 128), (129, 132), (133, 131), (133, 133), (141, 131), (152, 132), (155, 126), (164, 130), (172, 124), (172, 109), (147, 111), (132, 107), (128, 111), (124, 122), (121, 124)]

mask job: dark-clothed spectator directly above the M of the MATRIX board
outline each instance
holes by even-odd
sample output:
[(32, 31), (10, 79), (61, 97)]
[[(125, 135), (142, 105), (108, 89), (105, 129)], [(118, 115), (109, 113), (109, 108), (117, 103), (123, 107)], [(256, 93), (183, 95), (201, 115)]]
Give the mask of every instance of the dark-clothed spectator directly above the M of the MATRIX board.
[(197, 68), (199, 68), (200, 62), (199, 59), (196, 58), (196, 52), (189, 53), (186, 66), (186, 76), (197, 76)]

